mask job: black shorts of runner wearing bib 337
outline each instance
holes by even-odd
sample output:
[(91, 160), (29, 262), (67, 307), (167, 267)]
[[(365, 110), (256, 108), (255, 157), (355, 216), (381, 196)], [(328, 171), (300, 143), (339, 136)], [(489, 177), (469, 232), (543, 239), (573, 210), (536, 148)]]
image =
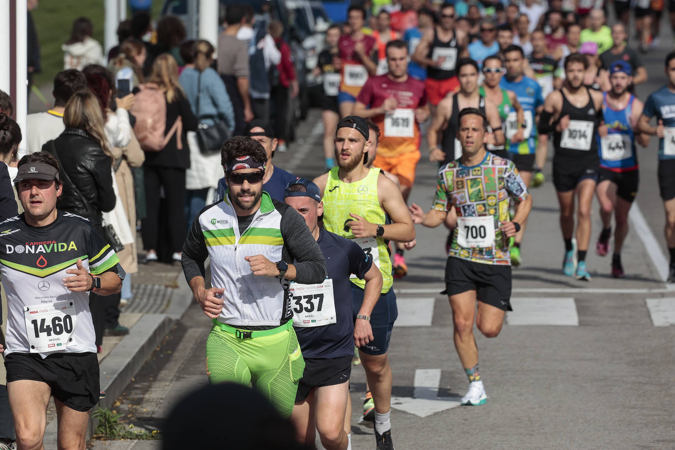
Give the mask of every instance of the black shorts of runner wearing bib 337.
[(315, 387), (341, 385), (349, 381), (352, 374), (353, 356), (339, 358), (304, 358), (304, 372), (296, 401), (303, 401)]

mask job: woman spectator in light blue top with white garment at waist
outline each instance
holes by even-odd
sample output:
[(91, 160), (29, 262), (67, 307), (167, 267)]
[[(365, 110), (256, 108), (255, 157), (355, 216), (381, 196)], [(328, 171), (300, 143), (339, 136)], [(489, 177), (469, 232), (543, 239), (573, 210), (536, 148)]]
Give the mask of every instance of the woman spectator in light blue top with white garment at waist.
[[(198, 40), (193, 45), (194, 64), (188, 65), (178, 78), (188, 96), (192, 113), (200, 124), (211, 126), (224, 120), (229, 130), (234, 131), (234, 111), (225, 84), (211, 68), (213, 45), (207, 40)], [(198, 99), (198, 100), (197, 100)], [(197, 111), (199, 103), (199, 111)], [(202, 154), (198, 146), (190, 145), (190, 169), (186, 171), (186, 225), (192, 223), (197, 213), (206, 205), (209, 189), (218, 186), (223, 175), (220, 152)]]

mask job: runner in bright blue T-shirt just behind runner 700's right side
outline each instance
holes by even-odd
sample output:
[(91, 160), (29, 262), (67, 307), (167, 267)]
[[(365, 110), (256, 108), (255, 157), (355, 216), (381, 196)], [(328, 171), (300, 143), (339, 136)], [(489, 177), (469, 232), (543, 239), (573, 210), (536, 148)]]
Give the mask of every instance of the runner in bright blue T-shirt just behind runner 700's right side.
[[(534, 36), (535, 33), (533, 33)], [(543, 33), (541, 38), (543, 41)], [(517, 45), (512, 45), (504, 52), (506, 58), (504, 65), (506, 65), (506, 76), (499, 82), (499, 86), (512, 90), (518, 96), (518, 103), (522, 105), (524, 111), (524, 134), (522, 142), (517, 144), (510, 144), (509, 151), (511, 153), (510, 159), (516, 165), (518, 173), (525, 186), (529, 189), (530, 181), (532, 181), (532, 174), (535, 169), (535, 156), (537, 153), (543, 154), (543, 160), (546, 160), (546, 152), (548, 150), (548, 136), (537, 136), (537, 127), (535, 120), (537, 115), (543, 109), (544, 99), (541, 96), (541, 88), (539, 84), (532, 78), (523, 75), (523, 66), (526, 60), (522, 49)], [(513, 133), (518, 124), (507, 123), (507, 134)], [(520, 243), (522, 242), (522, 235), (525, 233), (527, 223), (521, 224), (520, 230), (516, 233), (513, 248), (511, 249), (511, 263), (514, 266), (522, 264), (520, 256)]]

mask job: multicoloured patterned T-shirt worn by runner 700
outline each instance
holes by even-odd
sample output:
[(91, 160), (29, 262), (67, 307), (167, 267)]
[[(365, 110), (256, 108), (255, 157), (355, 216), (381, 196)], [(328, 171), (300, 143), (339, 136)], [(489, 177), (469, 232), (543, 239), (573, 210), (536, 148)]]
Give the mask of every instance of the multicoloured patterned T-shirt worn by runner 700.
[[(528, 196), (514, 163), (490, 152), (472, 167), (462, 165), (460, 159), (441, 167), (432, 207), (441, 211), (454, 207), (457, 213), (450, 256), (483, 264), (511, 264), (509, 239), (499, 227), (509, 220), (510, 202)], [(492, 221), (485, 223), (479, 217)], [(460, 245), (481, 240), (479, 246)]]

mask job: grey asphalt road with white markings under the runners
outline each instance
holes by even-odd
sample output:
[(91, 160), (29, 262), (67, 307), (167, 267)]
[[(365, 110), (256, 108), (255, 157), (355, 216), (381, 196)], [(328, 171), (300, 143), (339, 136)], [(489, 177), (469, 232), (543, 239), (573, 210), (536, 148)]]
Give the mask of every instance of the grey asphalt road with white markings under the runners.
[[(639, 97), (666, 78), (663, 58), (672, 37), (644, 57), (649, 81)], [(321, 125), (312, 111), (303, 136), (275, 165), (303, 177), (321, 173)], [(524, 264), (514, 269), (514, 312), (499, 337), (477, 335), (488, 395), (480, 407), (456, 407), (468, 386), (452, 345), (452, 322), (443, 289), (443, 229), (417, 228), (417, 247), (406, 254), (408, 277), (396, 281), (399, 320), (389, 356), (394, 371), (392, 434), (398, 449), (633, 449), (675, 448), (675, 292), (663, 283), (667, 262), (664, 213), (657, 186), (657, 142), (640, 148), (641, 182), (623, 254), (627, 277), (609, 276), (610, 258), (589, 252), (589, 283), (562, 275), (563, 242), (551, 185), (533, 190), (534, 208), (522, 243)], [(426, 148), (422, 149), (427, 154)], [(425, 209), (435, 190), (435, 163), (418, 165), (411, 200)], [(600, 221), (594, 208), (595, 244)], [(136, 376), (118, 412), (153, 428), (175, 399), (206, 383), (204, 345), (210, 320), (196, 304)], [(357, 425), (365, 375), (352, 370), (352, 443), (373, 449), (373, 430)], [(133, 443), (119, 448), (144, 448)], [(223, 443), (224, 445), (224, 443)], [(111, 448), (103, 443), (94, 448)], [(115, 447), (117, 448), (117, 447)]]

